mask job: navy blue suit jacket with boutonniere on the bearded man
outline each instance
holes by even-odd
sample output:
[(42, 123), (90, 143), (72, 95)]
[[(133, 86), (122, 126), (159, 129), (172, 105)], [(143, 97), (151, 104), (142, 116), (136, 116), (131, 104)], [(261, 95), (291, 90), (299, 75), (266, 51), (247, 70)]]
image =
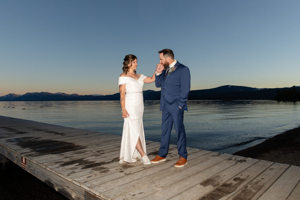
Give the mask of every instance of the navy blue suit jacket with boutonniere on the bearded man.
[(178, 106), (187, 110), (187, 98), (190, 93), (190, 70), (178, 61), (172, 71), (165, 79), (166, 70), (155, 76), (155, 86), (161, 88), (161, 107), (164, 105), (168, 110), (177, 109)]

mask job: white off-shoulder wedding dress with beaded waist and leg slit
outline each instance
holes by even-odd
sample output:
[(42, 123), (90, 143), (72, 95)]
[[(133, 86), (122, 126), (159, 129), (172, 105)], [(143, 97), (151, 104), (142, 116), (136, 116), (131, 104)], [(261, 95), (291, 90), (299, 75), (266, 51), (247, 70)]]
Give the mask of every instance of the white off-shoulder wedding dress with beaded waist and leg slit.
[(129, 117), (124, 118), (119, 163), (131, 163), (132, 158), (141, 159), (140, 153), (135, 148), (139, 137), (143, 150), (147, 154), (143, 127), (143, 85), (146, 77), (143, 74), (138, 80), (125, 76), (119, 77), (119, 85), (126, 84), (125, 109), (129, 114)]

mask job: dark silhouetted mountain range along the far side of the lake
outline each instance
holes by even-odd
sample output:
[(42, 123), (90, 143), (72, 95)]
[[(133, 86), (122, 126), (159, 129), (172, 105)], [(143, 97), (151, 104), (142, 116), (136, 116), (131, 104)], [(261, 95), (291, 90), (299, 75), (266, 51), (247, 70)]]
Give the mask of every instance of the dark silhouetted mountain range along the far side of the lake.
[[(300, 86), (295, 86), (300, 88)], [(287, 88), (251, 88), (245, 86), (224, 85), (217, 88), (191, 90), (189, 100), (270, 100), (274, 99), (277, 91)], [(161, 91), (143, 91), (144, 100), (160, 100)], [(120, 94), (65, 94), (50, 92), (33, 92), (23, 95), (7, 94), (0, 97), (0, 101), (94, 101), (94, 100), (120, 100)]]

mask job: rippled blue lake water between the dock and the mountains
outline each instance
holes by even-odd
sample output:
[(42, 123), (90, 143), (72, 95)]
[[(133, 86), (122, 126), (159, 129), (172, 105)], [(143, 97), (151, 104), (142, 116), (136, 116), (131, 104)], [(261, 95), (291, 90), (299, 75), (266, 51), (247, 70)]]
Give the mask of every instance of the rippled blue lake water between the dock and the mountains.
[[(144, 102), (147, 140), (160, 142), (159, 106), (159, 101)], [(229, 154), (300, 124), (300, 102), (201, 100), (188, 101), (188, 109), (187, 146)], [(0, 102), (0, 115), (116, 135), (122, 135), (123, 128), (119, 101)], [(177, 144), (175, 130), (170, 143)]]

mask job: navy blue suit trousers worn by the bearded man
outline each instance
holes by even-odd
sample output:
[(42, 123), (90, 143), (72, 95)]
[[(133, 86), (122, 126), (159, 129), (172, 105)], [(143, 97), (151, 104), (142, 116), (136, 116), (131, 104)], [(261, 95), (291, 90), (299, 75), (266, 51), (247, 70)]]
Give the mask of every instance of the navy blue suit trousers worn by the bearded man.
[(163, 107), (162, 123), (161, 123), (161, 148), (159, 148), (158, 155), (160, 157), (167, 157), (170, 143), (171, 130), (174, 124), (177, 134), (178, 154), (187, 159), (186, 137), (183, 125), (184, 109), (167, 110)]

